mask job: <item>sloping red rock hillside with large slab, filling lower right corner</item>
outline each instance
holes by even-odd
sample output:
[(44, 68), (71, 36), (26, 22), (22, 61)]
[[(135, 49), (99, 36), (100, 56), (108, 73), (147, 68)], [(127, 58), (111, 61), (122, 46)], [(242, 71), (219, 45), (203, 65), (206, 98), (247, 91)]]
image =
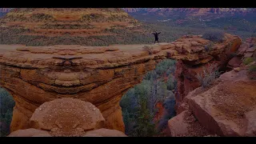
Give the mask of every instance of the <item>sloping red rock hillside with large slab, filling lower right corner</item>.
[[(183, 83), (178, 91), (184, 92), (177, 105), (178, 115), (168, 122), (170, 136), (255, 136), (256, 71), (249, 70), (256, 66), (254, 40), (248, 38), (234, 47), (238, 50), (234, 49), (236, 55), (227, 65), (231, 70), (211, 86), (195, 86), (195, 90), (186, 91), (185, 78), (180, 81)], [(245, 64), (242, 61), (246, 58), (254, 60)], [(190, 69), (179, 64), (177, 75), (181, 78)]]

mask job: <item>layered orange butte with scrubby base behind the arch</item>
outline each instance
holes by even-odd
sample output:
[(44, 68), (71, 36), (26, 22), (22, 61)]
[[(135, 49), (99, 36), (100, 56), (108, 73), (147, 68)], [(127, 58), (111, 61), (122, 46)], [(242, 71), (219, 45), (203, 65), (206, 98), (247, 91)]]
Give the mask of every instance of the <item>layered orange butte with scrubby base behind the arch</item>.
[[(108, 46), (110, 42), (128, 40), (129, 33), (146, 34), (141, 25), (119, 8), (15, 8), (0, 19), (0, 42)], [(123, 34), (113, 30), (122, 30)]]

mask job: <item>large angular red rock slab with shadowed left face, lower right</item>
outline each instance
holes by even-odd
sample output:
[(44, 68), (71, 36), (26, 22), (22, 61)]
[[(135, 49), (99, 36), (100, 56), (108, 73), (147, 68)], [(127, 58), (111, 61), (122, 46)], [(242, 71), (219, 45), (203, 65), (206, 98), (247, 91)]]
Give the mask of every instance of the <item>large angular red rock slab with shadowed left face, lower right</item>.
[[(220, 136), (256, 135), (256, 81), (222, 81), (189, 99), (190, 110), (211, 133)], [(246, 116), (247, 115), (247, 116)]]

